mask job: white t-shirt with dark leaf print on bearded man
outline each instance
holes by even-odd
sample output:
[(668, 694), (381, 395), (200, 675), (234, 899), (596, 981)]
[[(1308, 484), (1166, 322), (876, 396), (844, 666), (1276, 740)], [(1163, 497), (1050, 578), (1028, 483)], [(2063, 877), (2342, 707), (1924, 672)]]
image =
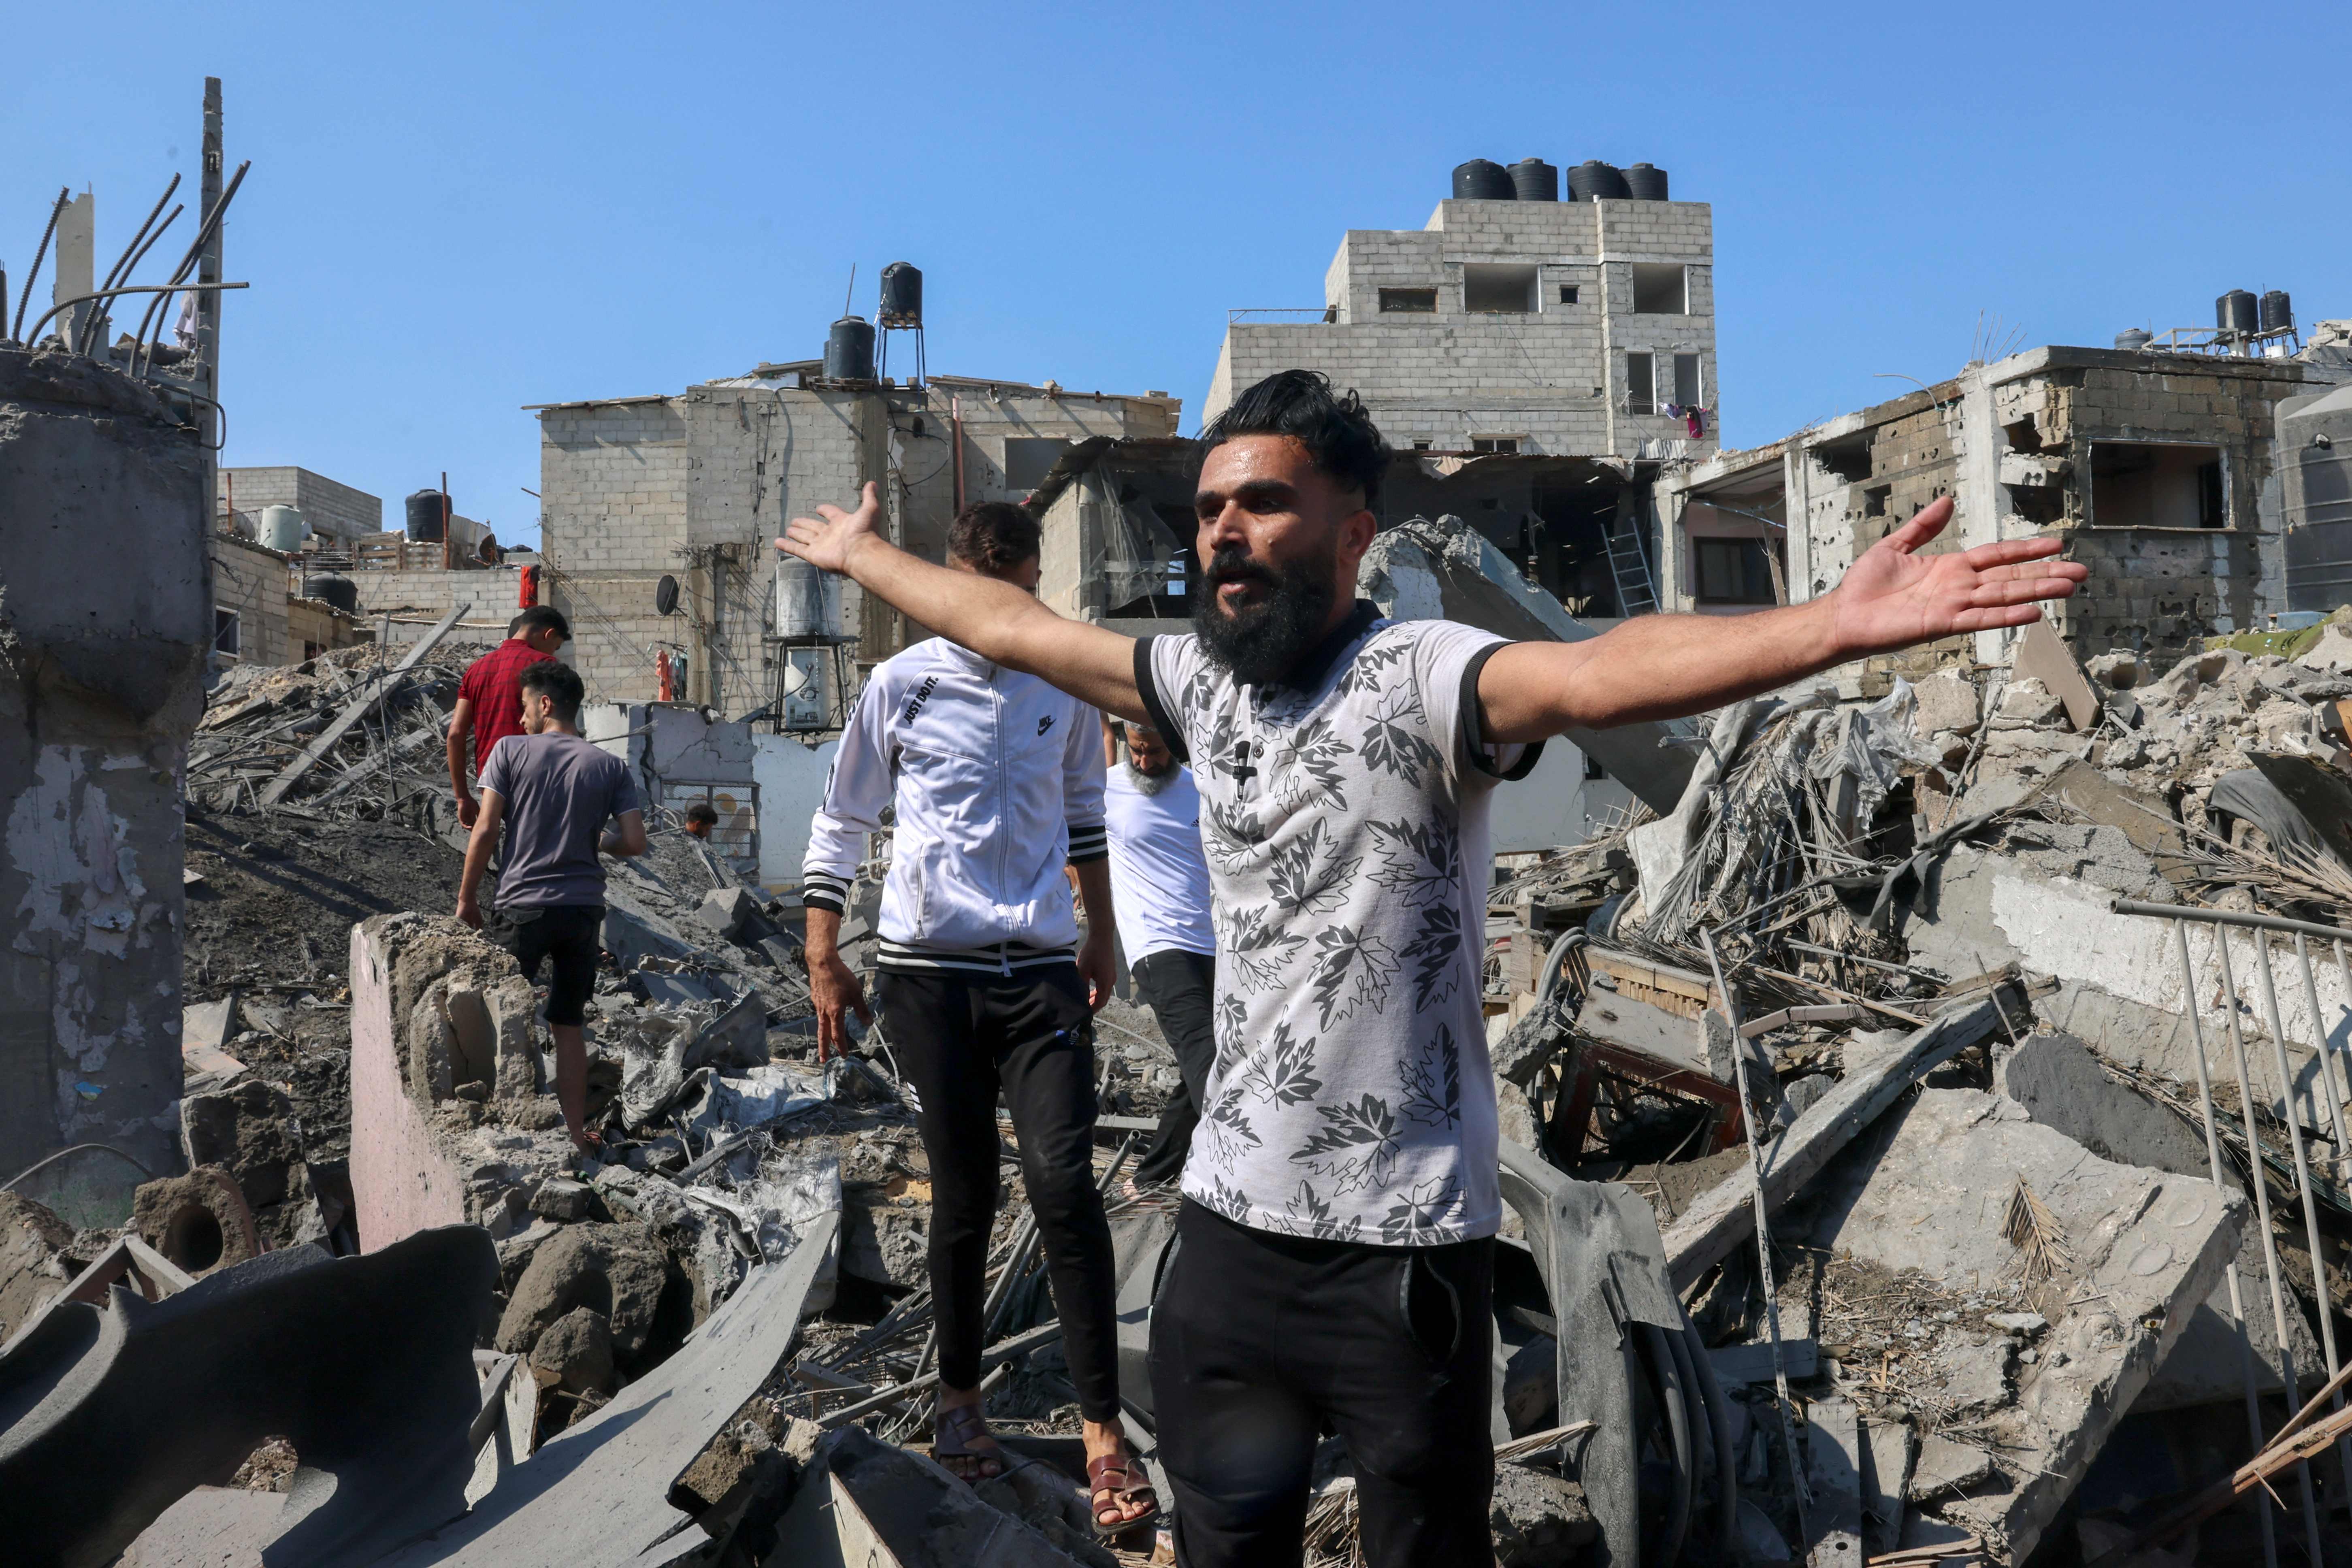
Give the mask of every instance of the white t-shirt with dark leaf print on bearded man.
[(1486, 809), (1541, 750), (1477, 733), (1501, 646), (1369, 602), (1284, 684), (1235, 684), (1192, 635), (1136, 644), (1202, 799), (1216, 1070), (1183, 1192), (1228, 1220), (1385, 1246), (1501, 1225)]

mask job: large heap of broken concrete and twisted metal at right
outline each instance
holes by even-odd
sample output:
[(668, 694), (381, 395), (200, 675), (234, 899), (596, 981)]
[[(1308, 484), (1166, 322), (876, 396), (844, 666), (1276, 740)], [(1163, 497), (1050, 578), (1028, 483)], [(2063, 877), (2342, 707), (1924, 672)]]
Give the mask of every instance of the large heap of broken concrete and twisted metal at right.
[[(2352, 983), (2317, 938), (2307, 983), (2291, 936), (2190, 924), (2176, 959), (2136, 910), (2352, 924), (2340, 646), (2154, 672), (2129, 654), (2077, 670), (2027, 637), (2013, 668), (1740, 703), (1670, 813), (1498, 865), (1503, 1131), (1649, 1197), (1740, 1408), (1750, 1556), (1835, 1535), (1818, 1481), (1839, 1443), (1870, 1554), (2020, 1563), (2079, 1526), (2096, 1556), (2274, 1441), (2300, 1403), (2281, 1366), (2303, 1396), (2338, 1366), (2352, 1190), (2328, 1100), (2352, 1063), (2305, 1041), (2340, 1039)], [(2249, 980), (2272, 940), (2296, 992), (2279, 1039), (2281, 1004)], [(1538, 1349), (1512, 1361), (1519, 1427), (1581, 1413)], [(2192, 1410), (2199, 1465), (2171, 1425)], [(2124, 1458), (2150, 1441), (2183, 1453), (2166, 1483)], [(2204, 1519), (2204, 1540), (2251, 1549), (2256, 1507)]]

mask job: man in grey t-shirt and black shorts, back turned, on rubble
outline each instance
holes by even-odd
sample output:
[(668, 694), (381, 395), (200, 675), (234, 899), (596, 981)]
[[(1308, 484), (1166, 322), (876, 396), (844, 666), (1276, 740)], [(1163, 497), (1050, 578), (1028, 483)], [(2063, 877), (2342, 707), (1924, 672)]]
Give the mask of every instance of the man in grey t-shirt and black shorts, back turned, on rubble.
[(536, 985), (541, 961), (555, 964), (548, 985), (555, 1100), (564, 1107), (572, 1143), (593, 1152), (597, 1138), (586, 1124), (586, 1025), (595, 966), (604, 952), (604, 865), (597, 851), (642, 856), (644, 806), (628, 764), (581, 741), (576, 724), (586, 689), (572, 665), (553, 658), (534, 663), (522, 670), (520, 684), (522, 733), (489, 748), (475, 780), (482, 811), (466, 844), (456, 917), (480, 931), (477, 889), (503, 827), (501, 936), (522, 964), (524, 980)]

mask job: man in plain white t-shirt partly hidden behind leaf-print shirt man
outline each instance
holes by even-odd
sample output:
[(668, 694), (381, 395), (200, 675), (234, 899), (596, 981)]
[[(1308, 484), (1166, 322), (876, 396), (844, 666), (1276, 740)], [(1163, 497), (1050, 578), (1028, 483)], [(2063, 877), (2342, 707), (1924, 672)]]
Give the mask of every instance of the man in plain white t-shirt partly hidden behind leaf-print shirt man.
[(1200, 851), (1200, 788), (1150, 724), (1105, 719), (1103, 825), (1110, 830), (1112, 919), (1136, 990), (1176, 1053), (1183, 1084), (1136, 1161), (1136, 1185), (1174, 1182), (1216, 1065), (1216, 931), (1209, 860)]

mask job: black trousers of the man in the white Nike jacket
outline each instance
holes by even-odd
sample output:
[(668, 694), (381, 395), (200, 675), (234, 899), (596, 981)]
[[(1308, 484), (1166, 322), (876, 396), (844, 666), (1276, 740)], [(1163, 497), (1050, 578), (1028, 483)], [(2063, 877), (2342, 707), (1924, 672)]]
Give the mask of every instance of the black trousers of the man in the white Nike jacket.
[(1120, 1415), (1117, 1281), (1094, 1187), (1094, 1023), (1075, 964), (1011, 976), (875, 976), (882, 1027), (922, 1107), (931, 1157), (931, 1300), (938, 1375), (981, 1380), (988, 1227), (997, 1213), (997, 1091), (1021, 1143), (1063, 1356), (1087, 1420)]

